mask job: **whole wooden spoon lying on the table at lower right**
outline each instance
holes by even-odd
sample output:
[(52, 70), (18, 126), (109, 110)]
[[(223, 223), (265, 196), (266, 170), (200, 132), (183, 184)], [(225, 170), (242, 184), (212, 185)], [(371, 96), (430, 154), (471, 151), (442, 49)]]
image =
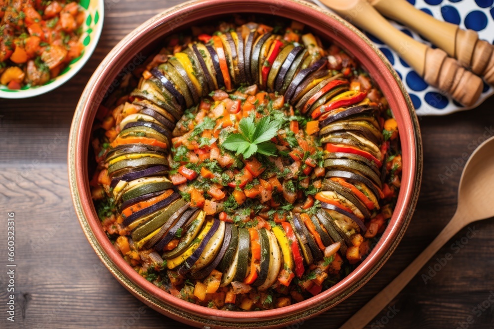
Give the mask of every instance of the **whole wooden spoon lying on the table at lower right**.
[(432, 243), (386, 288), (355, 313), (341, 329), (364, 328), (437, 251), (466, 225), (494, 217), (494, 137), (482, 143), (468, 159), (458, 187), (458, 206), (453, 218)]

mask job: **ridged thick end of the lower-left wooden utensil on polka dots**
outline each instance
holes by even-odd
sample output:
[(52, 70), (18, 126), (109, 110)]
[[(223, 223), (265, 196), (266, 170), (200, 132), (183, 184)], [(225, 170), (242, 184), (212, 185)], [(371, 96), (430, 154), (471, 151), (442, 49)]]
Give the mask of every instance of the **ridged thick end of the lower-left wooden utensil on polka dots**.
[(428, 48), (425, 53), (424, 79), (464, 106), (474, 105), (484, 86), (480, 77), (462, 68), (439, 48)]

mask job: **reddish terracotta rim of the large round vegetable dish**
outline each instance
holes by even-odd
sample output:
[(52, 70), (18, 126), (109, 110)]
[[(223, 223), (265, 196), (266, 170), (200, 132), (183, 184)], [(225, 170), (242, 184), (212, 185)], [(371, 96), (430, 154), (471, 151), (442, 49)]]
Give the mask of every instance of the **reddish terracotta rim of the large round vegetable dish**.
[[(124, 285), (129, 292), (148, 304), (148, 306), (175, 320), (194, 326), (245, 328), (246, 324), (242, 323), (242, 321), (249, 319), (249, 326), (251, 327), (271, 328), (286, 325), (287, 323), (294, 323), (300, 321), (301, 318), (314, 316), (338, 304), (369, 281), (389, 258), (389, 256), (391, 256), (399, 241), (403, 237), (408, 224), (410, 223), (416, 201), (418, 199), (418, 191), (422, 174), (422, 142), (418, 119), (413, 109), (412, 101), (410, 100), (405, 87), (391, 64), (387, 61), (385, 56), (372, 45), (371, 41), (365, 37), (365, 35), (346, 21), (343, 21), (341, 18), (329, 13), (328, 11), (303, 0), (278, 0), (275, 2), (283, 3), (283, 5), (279, 8), (279, 11), (286, 11), (285, 7), (287, 7), (289, 10), (296, 10), (294, 12), (300, 15), (312, 15), (317, 17), (318, 21), (325, 20), (330, 22), (330, 25), (336, 34), (339, 32), (344, 32), (342, 33), (344, 37), (348, 37), (349, 35), (352, 36), (352, 43), (356, 43), (362, 47), (362, 49), (369, 51), (369, 53), (366, 53), (365, 56), (369, 57), (368, 61), (374, 60), (372, 65), (376, 66), (374, 71), (376, 71), (376, 74), (378, 73), (379, 79), (389, 79), (392, 81), (389, 88), (399, 93), (393, 96), (393, 98), (397, 98), (396, 102), (399, 104), (399, 109), (393, 110), (393, 113), (395, 115), (398, 114), (400, 117), (400, 120), (397, 121), (399, 121), (399, 129), (402, 132), (401, 143), (402, 152), (404, 153), (402, 190), (400, 190), (397, 208), (395, 208), (393, 217), (378, 243), (373, 248), (371, 254), (367, 256), (367, 258), (356, 269), (354, 269), (338, 284), (331, 287), (327, 291), (302, 302), (279, 309), (262, 311), (231, 312), (213, 310), (174, 297), (171, 294), (159, 289), (154, 284), (148, 282), (138, 275), (111, 245), (110, 241), (106, 237), (106, 234), (104, 234), (101, 229), (100, 221), (97, 219), (94, 206), (90, 198), (86, 170), (86, 148), (89, 145), (89, 135), (87, 132), (90, 131), (90, 126), (92, 126), (96, 111), (95, 108), (97, 108), (93, 102), (96, 101), (96, 103), (98, 103), (102, 99), (102, 95), (98, 95), (94, 90), (97, 90), (98, 87), (102, 85), (103, 80), (105, 79), (105, 74), (108, 74), (108, 71), (112, 70), (108, 67), (108, 64), (115, 64), (115, 62), (118, 62), (119, 59), (121, 60), (122, 57), (124, 57), (121, 49), (125, 49), (126, 52), (128, 52), (129, 49), (127, 47), (131, 48), (137, 38), (142, 37), (148, 34), (151, 30), (164, 25), (165, 22), (168, 22), (169, 24), (170, 21), (173, 23), (177, 22), (178, 19), (180, 22), (178, 25), (183, 26), (183, 24), (186, 24), (188, 20), (194, 20), (194, 18), (191, 19), (189, 17), (190, 13), (200, 13), (201, 11), (207, 10), (208, 6), (233, 6), (235, 4), (239, 6), (243, 4), (245, 6), (245, 1), (188, 1), (173, 6), (146, 21), (129, 35), (124, 37), (124, 39), (120, 41), (105, 57), (90, 78), (82, 93), (74, 114), (69, 136), (68, 169), (70, 190), (76, 214), (86, 238), (95, 250), (96, 254), (105, 266), (107, 266), (110, 272), (117, 278), (117, 280)], [(253, 5), (269, 6), (273, 5), (273, 1), (250, 0), (248, 4), (248, 7)], [(237, 12), (252, 12), (252, 10), (237, 9)], [(292, 12), (292, 16), (295, 15), (294, 12)], [(275, 13), (273, 12), (273, 14)], [(280, 13), (278, 14), (280, 15)], [(214, 16), (214, 14), (205, 15), (201, 18), (206, 16)], [(195, 19), (197, 20), (198, 18), (196, 17)], [(141, 46), (141, 49), (142, 47), (143, 46)], [(355, 51), (348, 50), (348, 52), (350, 54), (355, 54)], [(378, 71), (379, 69), (381, 71)], [(116, 73), (118, 73), (118, 71), (114, 72), (115, 75)], [(371, 76), (375, 78), (376, 74), (371, 74)], [(106, 79), (111, 82), (111, 79), (108, 77), (106, 77)], [(109, 87), (108, 84), (105, 85)], [(379, 86), (381, 87), (381, 85)], [(391, 90), (389, 93), (391, 94)], [(390, 95), (386, 95), (387, 98), (389, 96)], [(98, 97), (99, 99), (95, 100), (95, 98)], [(405, 190), (403, 186), (405, 186), (407, 190)], [(398, 205), (400, 206), (399, 208)], [(98, 224), (99, 227), (97, 227), (95, 223)]]

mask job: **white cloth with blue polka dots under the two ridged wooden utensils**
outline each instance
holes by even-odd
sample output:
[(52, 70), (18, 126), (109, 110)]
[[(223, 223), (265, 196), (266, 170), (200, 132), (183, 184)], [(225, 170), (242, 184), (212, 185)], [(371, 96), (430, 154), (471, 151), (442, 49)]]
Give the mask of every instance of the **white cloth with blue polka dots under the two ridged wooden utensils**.
[[(434, 18), (457, 24), (462, 29), (472, 29), (479, 34), (479, 38), (494, 44), (494, 0), (407, 0), (416, 8)], [(318, 0), (316, 4), (325, 7)], [(419, 40), (431, 47), (425, 37), (415, 33), (411, 28), (394, 21), (390, 23), (410, 37)], [(398, 75), (402, 78), (412, 99), (417, 115), (445, 115), (460, 110), (469, 110), (494, 94), (494, 88), (484, 82), (484, 89), (476, 105), (466, 108), (443, 95), (437, 88), (431, 87), (420, 77), (400, 56), (378, 38), (365, 33), (374, 45), (386, 56)]]

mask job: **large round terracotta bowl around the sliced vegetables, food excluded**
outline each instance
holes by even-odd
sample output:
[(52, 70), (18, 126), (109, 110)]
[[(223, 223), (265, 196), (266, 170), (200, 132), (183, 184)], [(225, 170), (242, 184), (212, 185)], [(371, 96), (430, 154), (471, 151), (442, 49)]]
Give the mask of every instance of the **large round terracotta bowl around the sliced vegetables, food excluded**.
[[(403, 178), (393, 217), (371, 254), (341, 282), (302, 302), (273, 310), (214, 310), (176, 298), (139, 276), (117, 253), (103, 232), (91, 200), (88, 177), (89, 137), (101, 100), (118, 87), (123, 70), (133, 70), (160, 40), (181, 28), (228, 16), (256, 13), (304, 23), (322, 39), (353, 55), (378, 84), (398, 122), (403, 152)], [(91, 159), (92, 161), (92, 159)], [(417, 117), (405, 88), (382, 53), (357, 29), (300, 0), (204, 0), (185, 2), (148, 20), (106, 56), (84, 89), (72, 121), (68, 155), (72, 198), (82, 229), (101, 261), (132, 294), (158, 312), (204, 328), (277, 328), (301, 323), (328, 310), (361, 288), (396, 249), (412, 218), (422, 172), (422, 146)]]

